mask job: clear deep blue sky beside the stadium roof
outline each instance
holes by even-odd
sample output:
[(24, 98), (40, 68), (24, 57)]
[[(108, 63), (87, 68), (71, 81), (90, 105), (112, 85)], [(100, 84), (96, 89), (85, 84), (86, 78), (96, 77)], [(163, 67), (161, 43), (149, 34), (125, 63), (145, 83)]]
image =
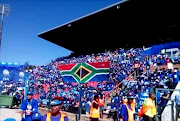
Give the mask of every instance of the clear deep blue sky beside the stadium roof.
[(119, 0), (0, 0), (10, 5), (4, 18), (1, 61), (44, 65), (71, 51), (37, 36)]

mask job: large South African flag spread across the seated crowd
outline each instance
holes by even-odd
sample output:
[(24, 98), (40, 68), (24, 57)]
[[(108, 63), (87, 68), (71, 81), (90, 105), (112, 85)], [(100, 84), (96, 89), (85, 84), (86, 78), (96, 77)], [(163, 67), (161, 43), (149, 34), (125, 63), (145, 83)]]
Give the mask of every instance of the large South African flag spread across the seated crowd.
[(109, 62), (59, 65), (64, 82), (108, 81)]

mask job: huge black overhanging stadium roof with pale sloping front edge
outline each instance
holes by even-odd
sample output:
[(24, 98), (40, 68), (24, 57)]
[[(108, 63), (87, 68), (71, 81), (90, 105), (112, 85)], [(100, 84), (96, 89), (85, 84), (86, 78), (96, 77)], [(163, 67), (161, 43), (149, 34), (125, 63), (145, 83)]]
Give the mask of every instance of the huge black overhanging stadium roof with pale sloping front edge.
[(125, 0), (38, 34), (74, 53), (179, 40), (177, 0)]

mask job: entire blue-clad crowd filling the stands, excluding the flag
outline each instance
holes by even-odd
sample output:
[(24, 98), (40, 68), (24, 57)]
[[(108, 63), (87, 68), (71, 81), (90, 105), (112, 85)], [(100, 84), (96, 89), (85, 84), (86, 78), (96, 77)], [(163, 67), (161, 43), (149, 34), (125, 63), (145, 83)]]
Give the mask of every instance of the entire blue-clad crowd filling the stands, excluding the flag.
[[(74, 111), (76, 105), (79, 104), (79, 97), (82, 93), (82, 107), (84, 112), (88, 112), (90, 108), (91, 97), (94, 94), (106, 94), (120, 86), (117, 95), (111, 98), (110, 109), (119, 110), (122, 100), (126, 95), (132, 93), (136, 97), (137, 108), (142, 104), (141, 97), (147, 97), (149, 92), (155, 88), (175, 88), (179, 81), (179, 71), (173, 68), (171, 59), (165, 54), (153, 55), (152, 57), (142, 55), (143, 49), (122, 48), (115, 51), (107, 51), (104, 53), (79, 56), (79, 57), (60, 57), (52, 60), (51, 63), (42, 66), (36, 66), (29, 70), (29, 90), (34, 93), (34, 98), (38, 100), (39, 106), (48, 106), (48, 101), (55, 97), (63, 99), (63, 108), (67, 111)], [(110, 62), (109, 80), (102, 82), (88, 82), (83, 84), (83, 92), (80, 92), (78, 83), (63, 82), (58, 65), (73, 64), (81, 62)], [(170, 65), (170, 64), (171, 65)], [(168, 65), (168, 69), (160, 69), (159, 66)], [(150, 70), (155, 66), (155, 70)], [(133, 78), (130, 78), (130, 77)], [(123, 82), (123, 83), (121, 83)], [(121, 83), (121, 85), (119, 85)], [(3, 92), (6, 95), (15, 97), (15, 104), (19, 105), (24, 99), (23, 87), (24, 83), (3, 83)], [(158, 102), (161, 101), (161, 95), (169, 92), (161, 92), (158, 95)], [(117, 111), (118, 112), (118, 111)], [(159, 109), (162, 112), (162, 108)], [(119, 112), (118, 112), (119, 113)], [(88, 114), (88, 113), (87, 113)]]

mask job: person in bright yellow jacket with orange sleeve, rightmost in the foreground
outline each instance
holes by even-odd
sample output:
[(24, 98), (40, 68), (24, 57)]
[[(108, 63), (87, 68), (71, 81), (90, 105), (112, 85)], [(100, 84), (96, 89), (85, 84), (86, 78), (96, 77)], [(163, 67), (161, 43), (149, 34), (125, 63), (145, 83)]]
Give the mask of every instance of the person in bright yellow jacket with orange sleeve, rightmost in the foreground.
[(143, 102), (138, 116), (142, 117), (144, 121), (153, 121), (156, 114), (155, 94), (151, 92)]

